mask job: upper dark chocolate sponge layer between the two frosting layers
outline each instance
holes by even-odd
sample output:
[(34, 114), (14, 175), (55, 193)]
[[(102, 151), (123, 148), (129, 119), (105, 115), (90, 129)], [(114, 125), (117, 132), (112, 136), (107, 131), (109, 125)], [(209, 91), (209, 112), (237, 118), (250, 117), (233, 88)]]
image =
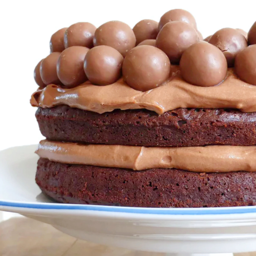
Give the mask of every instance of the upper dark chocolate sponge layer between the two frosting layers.
[(142, 146), (256, 145), (256, 112), (176, 109), (104, 114), (68, 106), (38, 108), (43, 136), (50, 140)]

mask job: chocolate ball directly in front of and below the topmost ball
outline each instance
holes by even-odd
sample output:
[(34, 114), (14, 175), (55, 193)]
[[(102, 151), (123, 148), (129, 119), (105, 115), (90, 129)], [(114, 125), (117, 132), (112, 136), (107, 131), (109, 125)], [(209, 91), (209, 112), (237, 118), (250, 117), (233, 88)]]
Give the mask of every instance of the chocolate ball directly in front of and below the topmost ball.
[(156, 39), (156, 47), (166, 53), (172, 64), (177, 64), (183, 51), (198, 40), (198, 34), (192, 26), (183, 21), (172, 21), (160, 30)]

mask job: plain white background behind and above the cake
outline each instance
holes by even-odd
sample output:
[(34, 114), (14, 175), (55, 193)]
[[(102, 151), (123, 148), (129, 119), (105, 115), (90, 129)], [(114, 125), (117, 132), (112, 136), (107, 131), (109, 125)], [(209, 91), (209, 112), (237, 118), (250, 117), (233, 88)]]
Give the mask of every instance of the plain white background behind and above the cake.
[(224, 27), (248, 31), (256, 21), (255, 0), (1, 0), (0, 150), (42, 139), (29, 101), (37, 89), (34, 67), (49, 54), (51, 34), (79, 21), (133, 27), (142, 19), (159, 21), (171, 9), (191, 12), (204, 38)]

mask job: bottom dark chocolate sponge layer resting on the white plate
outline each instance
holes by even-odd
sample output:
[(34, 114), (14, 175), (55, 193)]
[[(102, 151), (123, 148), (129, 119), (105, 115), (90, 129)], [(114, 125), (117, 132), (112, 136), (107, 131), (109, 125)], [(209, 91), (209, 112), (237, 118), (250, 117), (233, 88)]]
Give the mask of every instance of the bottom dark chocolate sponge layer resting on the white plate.
[(256, 205), (256, 173), (130, 171), (38, 160), (36, 183), (61, 203), (134, 207)]

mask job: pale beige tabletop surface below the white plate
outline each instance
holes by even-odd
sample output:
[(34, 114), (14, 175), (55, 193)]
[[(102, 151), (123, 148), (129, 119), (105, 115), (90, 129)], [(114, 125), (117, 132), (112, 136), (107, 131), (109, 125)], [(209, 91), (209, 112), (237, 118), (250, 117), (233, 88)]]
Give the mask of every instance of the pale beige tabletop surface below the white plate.
[[(50, 225), (27, 218), (11, 218), (0, 222), (0, 256), (164, 256), (158, 252), (138, 252), (118, 247), (77, 240)], [(187, 256), (189, 254), (167, 254)], [(206, 254), (193, 254), (205, 256)], [(207, 254), (208, 255), (208, 254)], [(232, 256), (209, 254), (209, 256)], [(239, 256), (256, 256), (242, 254)]]

